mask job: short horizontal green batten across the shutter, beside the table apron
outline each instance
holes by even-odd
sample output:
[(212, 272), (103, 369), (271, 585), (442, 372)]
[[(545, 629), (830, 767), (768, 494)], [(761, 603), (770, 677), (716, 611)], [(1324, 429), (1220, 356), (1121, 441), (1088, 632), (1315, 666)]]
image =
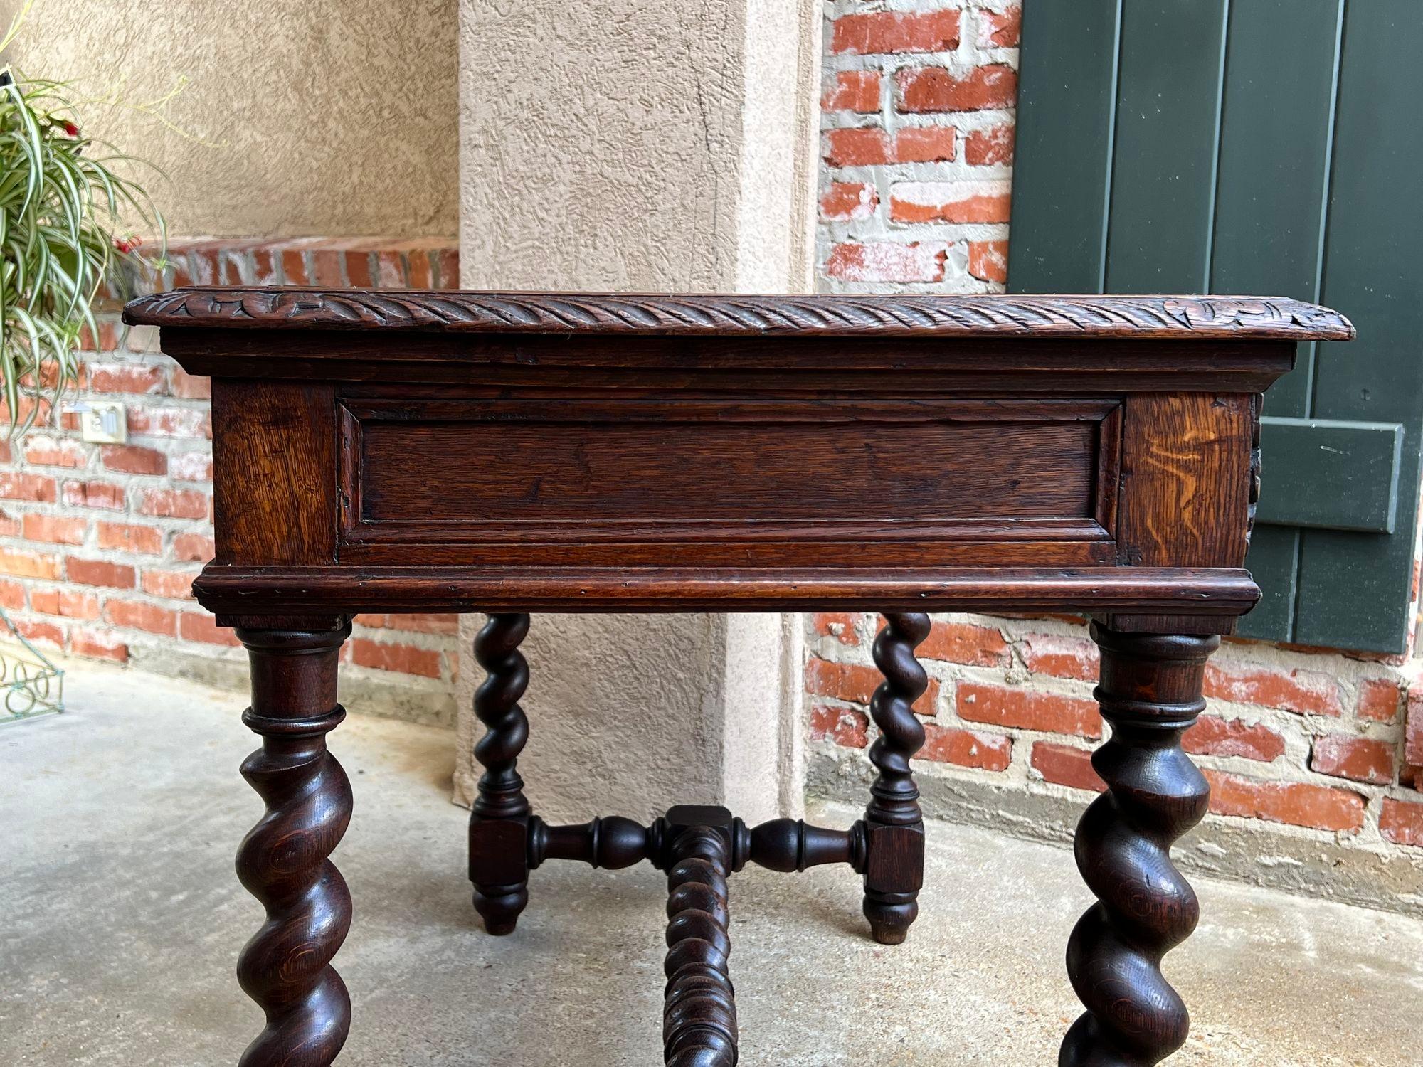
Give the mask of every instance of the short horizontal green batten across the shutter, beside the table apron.
[(1279, 462), (1261, 487), (1257, 522), (1393, 532), (1403, 450), (1399, 423), (1266, 415), (1259, 448)]

